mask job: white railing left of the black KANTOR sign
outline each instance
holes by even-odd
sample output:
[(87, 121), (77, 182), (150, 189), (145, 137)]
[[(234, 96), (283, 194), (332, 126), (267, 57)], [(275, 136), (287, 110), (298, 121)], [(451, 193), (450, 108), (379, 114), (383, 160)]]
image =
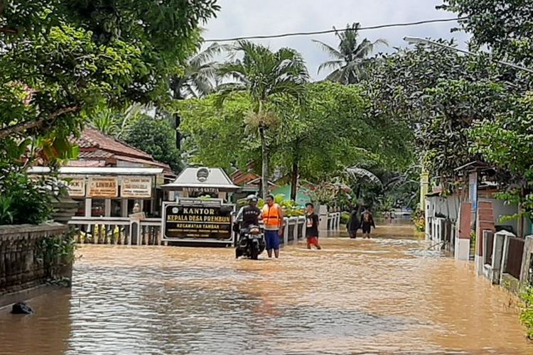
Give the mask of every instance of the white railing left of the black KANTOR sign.
[(161, 219), (129, 217), (74, 217), (80, 244), (161, 245)]

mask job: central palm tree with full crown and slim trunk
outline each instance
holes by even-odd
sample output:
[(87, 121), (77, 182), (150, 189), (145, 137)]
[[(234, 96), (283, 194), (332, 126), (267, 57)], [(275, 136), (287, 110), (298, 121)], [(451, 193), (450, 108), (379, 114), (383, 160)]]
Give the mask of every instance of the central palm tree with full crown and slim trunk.
[[(237, 56), (242, 55), (241, 59)], [(281, 48), (273, 52), (264, 45), (246, 40), (235, 43), (232, 59), (220, 65), (221, 77), (229, 77), (232, 82), (220, 85), (220, 98), (223, 100), (232, 92), (247, 92), (253, 108), (247, 117), (247, 124), (257, 129), (261, 138), (262, 150), (262, 192), (268, 192), (269, 145), (266, 131), (276, 124), (277, 117), (268, 107), (274, 97), (288, 95), (299, 102), (303, 101), (305, 83), (309, 80), (306, 63), (300, 53), (291, 48)]]

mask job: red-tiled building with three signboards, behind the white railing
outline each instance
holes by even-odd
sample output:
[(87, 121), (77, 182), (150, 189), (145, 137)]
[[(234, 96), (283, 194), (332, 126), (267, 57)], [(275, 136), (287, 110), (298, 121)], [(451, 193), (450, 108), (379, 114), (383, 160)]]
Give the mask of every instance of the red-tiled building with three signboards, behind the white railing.
[[(127, 217), (135, 204), (148, 216), (160, 215), (161, 185), (176, 178), (167, 164), (91, 126), (70, 141), (80, 153), (60, 168), (59, 178), (80, 202), (78, 217)], [(35, 166), (29, 173), (48, 171)]]

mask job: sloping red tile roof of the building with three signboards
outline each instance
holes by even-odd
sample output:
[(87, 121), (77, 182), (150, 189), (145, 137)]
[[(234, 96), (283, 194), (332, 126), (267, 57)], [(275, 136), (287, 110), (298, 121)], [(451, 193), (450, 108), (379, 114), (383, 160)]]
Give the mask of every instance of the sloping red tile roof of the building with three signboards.
[(69, 166), (117, 166), (118, 160), (156, 166), (163, 168), (166, 174), (174, 175), (167, 164), (158, 162), (150, 154), (91, 126), (87, 126), (80, 137), (72, 137), (70, 141), (80, 147), (80, 154), (77, 160), (68, 163)]

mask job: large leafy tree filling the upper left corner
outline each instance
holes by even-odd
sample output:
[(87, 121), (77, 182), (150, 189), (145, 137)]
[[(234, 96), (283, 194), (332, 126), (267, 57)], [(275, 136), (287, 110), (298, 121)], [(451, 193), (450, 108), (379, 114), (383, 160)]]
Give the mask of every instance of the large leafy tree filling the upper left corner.
[[(0, 141), (45, 138), (68, 148), (82, 111), (168, 97), (215, 0), (2, 1)], [(12, 30), (12, 31), (11, 31)], [(2, 144), (0, 143), (0, 148)]]

